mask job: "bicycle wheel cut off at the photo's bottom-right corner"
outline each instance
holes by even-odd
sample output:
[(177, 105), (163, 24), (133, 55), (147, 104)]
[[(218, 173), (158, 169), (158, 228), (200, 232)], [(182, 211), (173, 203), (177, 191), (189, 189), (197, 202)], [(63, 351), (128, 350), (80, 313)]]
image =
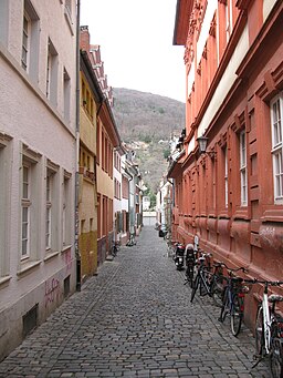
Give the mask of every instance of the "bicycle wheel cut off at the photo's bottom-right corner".
[(283, 346), (277, 321), (271, 325), (270, 370), (273, 378), (283, 378)]

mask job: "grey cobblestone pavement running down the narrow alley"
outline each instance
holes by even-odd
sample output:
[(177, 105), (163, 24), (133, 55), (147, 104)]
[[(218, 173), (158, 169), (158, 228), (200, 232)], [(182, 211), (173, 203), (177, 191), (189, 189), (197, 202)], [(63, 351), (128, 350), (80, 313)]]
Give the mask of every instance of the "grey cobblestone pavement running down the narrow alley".
[(247, 328), (235, 338), (209, 298), (190, 304), (166, 249), (144, 227), (0, 364), (0, 377), (269, 378), (264, 362), (251, 369)]

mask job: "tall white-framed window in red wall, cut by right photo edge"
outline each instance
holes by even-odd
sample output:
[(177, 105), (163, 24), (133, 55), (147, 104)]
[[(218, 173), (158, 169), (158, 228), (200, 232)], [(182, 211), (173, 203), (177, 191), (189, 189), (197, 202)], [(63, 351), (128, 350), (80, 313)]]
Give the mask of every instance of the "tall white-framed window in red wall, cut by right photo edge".
[(272, 165), (275, 203), (283, 203), (282, 92), (271, 102)]

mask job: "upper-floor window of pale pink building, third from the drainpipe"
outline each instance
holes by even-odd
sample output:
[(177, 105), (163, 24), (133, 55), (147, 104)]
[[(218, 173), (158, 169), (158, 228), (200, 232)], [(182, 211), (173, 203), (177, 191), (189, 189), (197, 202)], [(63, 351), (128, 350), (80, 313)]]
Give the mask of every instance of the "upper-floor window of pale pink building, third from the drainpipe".
[(33, 79), (39, 73), (39, 17), (30, 0), (24, 0), (21, 65)]

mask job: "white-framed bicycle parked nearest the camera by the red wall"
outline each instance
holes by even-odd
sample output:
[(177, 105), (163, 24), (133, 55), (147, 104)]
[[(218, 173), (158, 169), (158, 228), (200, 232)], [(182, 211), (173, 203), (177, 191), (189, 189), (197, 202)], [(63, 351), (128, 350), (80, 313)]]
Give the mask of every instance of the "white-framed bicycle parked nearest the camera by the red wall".
[(283, 285), (283, 282), (253, 279), (252, 283), (264, 285), (255, 320), (256, 355), (254, 357), (259, 360), (254, 366), (268, 357), (272, 377), (283, 378), (283, 319), (275, 313), (276, 304), (283, 302), (283, 296), (269, 295), (269, 286), (280, 286)]

